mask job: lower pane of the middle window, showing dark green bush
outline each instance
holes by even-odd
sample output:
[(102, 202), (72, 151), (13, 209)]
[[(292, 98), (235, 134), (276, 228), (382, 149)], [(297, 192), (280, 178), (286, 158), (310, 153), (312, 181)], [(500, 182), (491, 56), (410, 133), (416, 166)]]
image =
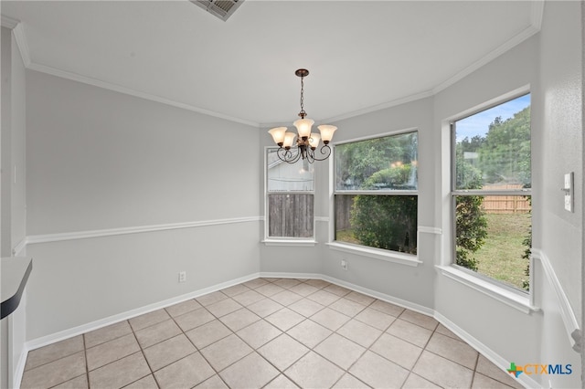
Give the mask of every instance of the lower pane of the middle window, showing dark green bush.
[(417, 253), (417, 196), (335, 195), (335, 240)]

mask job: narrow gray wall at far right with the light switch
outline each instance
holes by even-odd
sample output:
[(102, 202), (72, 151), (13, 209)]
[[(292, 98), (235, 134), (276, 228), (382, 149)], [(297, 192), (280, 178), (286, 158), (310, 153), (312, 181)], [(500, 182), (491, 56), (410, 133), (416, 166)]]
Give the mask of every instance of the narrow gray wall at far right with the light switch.
[[(583, 2), (549, 2), (540, 34), (540, 200), (535, 214), (538, 247), (554, 268), (570, 308), (583, 329)], [(562, 21), (562, 23), (559, 23)], [(575, 173), (575, 209), (564, 209), (565, 173)], [(551, 333), (564, 329), (558, 305), (551, 299), (554, 289), (542, 283), (544, 311), (541, 360), (561, 361), (569, 357), (566, 339)], [(582, 338), (581, 338), (582, 339)], [(582, 351), (581, 351), (582, 352)], [(574, 356), (572, 354), (571, 356)], [(581, 363), (583, 363), (581, 361)], [(577, 377), (572, 377), (577, 386)], [(568, 386), (557, 376), (549, 378), (553, 387)], [(548, 384), (547, 382), (543, 384)]]

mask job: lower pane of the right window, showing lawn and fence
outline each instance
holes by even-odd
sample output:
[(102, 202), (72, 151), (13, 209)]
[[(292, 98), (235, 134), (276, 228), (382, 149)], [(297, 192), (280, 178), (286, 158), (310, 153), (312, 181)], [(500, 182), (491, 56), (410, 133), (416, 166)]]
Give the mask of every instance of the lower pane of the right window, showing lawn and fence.
[(528, 289), (530, 197), (457, 195), (455, 205), (456, 264)]

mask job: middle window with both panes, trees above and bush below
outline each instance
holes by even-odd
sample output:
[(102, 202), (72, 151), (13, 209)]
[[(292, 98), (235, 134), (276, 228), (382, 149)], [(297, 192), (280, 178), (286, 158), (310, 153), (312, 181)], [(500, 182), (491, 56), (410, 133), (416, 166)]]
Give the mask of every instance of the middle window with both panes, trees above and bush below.
[(335, 241), (417, 253), (418, 133), (335, 145)]

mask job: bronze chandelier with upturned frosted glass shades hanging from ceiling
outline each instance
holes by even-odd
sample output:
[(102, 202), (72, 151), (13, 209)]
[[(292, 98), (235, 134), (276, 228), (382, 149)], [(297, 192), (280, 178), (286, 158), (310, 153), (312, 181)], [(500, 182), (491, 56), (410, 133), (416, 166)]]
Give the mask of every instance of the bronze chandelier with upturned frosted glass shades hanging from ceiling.
[[(331, 147), (329, 142), (333, 138), (333, 133), (337, 130), (337, 127), (330, 126), (328, 124), (322, 124), (317, 126), (321, 132), (311, 132), (311, 127), (314, 124), (314, 120), (305, 118), (307, 112), (304, 111), (303, 106), (303, 91), (304, 83), (303, 79), (309, 75), (309, 70), (306, 68), (300, 68), (294, 72), (298, 77), (301, 78), (301, 111), (299, 116), (301, 119), (294, 121), (293, 125), (296, 127), (298, 134), (293, 132), (287, 132), (286, 127), (275, 127), (268, 132), (272, 135), (272, 139), (278, 144), (279, 149), (276, 154), (285, 163), (295, 163), (301, 158), (307, 160), (309, 163), (315, 161), (324, 161), (331, 155)], [(296, 147), (293, 147), (294, 140), (296, 138)], [(323, 146), (319, 149), (319, 153), (315, 150), (319, 147), (320, 141), (323, 141)], [(315, 155), (316, 154), (316, 155)]]

